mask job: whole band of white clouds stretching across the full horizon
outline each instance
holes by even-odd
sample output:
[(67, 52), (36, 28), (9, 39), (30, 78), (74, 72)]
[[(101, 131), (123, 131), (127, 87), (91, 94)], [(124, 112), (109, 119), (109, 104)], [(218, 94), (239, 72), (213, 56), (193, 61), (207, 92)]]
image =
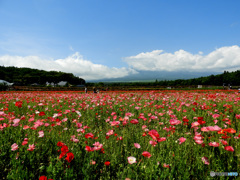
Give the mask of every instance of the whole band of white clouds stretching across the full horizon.
[[(128, 67), (108, 67), (94, 64), (86, 60), (79, 53), (63, 59), (43, 59), (39, 56), (0, 56), (0, 65), (29, 67), (42, 70), (55, 70), (73, 73), (86, 81), (107, 78), (123, 78), (138, 71), (186, 71), (186, 72), (223, 72), (240, 69), (240, 47), (230, 46), (215, 49), (204, 55), (201, 51), (192, 54), (184, 50), (167, 53), (163, 50), (154, 50), (124, 58)], [(136, 77), (136, 76), (134, 76)]]

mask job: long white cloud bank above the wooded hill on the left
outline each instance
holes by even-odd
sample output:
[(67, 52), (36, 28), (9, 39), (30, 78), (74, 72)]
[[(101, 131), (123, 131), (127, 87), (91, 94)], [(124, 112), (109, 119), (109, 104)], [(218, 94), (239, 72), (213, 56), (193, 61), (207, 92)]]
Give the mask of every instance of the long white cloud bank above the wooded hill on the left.
[(110, 68), (84, 60), (79, 53), (65, 59), (46, 60), (38, 56), (0, 56), (0, 64), (4, 66), (29, 67), (42, 70), (56, 70), (73, 73), (86, 81), (104, 78), (120, 78), (137, 72), (131, 68)]

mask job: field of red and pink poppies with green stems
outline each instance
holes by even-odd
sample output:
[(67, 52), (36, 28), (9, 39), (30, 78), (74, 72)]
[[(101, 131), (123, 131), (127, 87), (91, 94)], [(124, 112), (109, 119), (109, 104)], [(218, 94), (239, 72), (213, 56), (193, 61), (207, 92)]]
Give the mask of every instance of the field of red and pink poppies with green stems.
[(239, 121), (233, 90), (1, 92), (0, 179), (211, 179)]

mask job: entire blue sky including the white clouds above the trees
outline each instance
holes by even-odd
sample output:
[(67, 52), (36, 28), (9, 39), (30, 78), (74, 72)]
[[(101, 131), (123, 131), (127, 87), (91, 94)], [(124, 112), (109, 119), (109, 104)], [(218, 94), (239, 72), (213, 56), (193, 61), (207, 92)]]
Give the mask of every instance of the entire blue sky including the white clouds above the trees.
[(86, 81), (235, 71), (239, 8), (238, 0), (0, 0), (0, 65)]

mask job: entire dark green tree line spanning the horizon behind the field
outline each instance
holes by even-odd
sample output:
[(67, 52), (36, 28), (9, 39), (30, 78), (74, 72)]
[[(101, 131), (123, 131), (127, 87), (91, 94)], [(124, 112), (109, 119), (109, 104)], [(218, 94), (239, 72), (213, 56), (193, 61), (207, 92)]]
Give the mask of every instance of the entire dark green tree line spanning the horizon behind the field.
[(21, 85), (31, 85), (37, 83), (45, 85), (46, 82), (57, 84), (60, 81), (67, 81), (71, 85), (86, 85), (88, 87), (139, 87), (139, 86), (196, 86), (196, 85), (213, 85), (213, 86), (240, 86), (240, 70), (222, 74), (210, 75), (206, 77), (177, 80), (155, 80), (154, 82), (98, 82), (86, 83), (84, 79), (74, 76), (72, 73), (60, 71), (44, 71), (31, 68), (17, 68), (0, 66), (0, 79)]

